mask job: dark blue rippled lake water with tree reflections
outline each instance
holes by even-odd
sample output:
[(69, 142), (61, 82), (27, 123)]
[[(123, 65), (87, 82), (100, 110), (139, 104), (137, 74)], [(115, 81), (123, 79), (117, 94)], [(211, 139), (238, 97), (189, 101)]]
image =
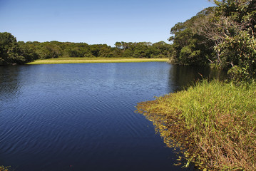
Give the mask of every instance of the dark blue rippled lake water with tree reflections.
[(36, 170), (193, 170), (136, 103), (180, 90), (208, 68), (168, 63), (0, 67), (0, 165)]

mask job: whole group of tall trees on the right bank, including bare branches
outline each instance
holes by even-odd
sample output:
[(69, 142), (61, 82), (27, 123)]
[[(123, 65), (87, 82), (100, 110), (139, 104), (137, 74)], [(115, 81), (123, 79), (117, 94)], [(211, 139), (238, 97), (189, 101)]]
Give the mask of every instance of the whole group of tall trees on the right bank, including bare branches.
[(222, 68), (235, 79), (256, 77), (256, 1), (214, 0), (215, 6), (171, 28), (170, 61)]

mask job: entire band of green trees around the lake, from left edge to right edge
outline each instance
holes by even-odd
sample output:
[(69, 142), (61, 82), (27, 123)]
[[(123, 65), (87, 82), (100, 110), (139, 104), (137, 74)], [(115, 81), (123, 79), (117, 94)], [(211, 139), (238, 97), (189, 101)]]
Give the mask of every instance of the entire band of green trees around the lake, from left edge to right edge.
[(0, 65), (59, 57), (170, 58), (180, 65), (210, 65), (225, 69), (232, 78), (256, 76), (256, 0), (213, 1), (188, 21), (170, 30), (170, 44), (160, 41), (88, 45), (71, 42), (16, 41), (0, 33)]

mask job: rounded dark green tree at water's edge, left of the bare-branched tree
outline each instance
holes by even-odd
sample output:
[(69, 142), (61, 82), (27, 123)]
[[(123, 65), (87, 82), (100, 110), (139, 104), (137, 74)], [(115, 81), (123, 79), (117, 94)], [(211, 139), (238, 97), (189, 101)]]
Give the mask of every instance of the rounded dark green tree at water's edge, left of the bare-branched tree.
[(169, 38), (173, 41), (173, 51), (170, 60), (182, 65), (206, 65), (213, 56), (213, 41), (208, 41), (205, 36), (197, 33), (195, 26), (213, 11), (213, 8), (204, 9), (196, 16), (178, 23), (171, 28), (170, 33), (174, 36)]

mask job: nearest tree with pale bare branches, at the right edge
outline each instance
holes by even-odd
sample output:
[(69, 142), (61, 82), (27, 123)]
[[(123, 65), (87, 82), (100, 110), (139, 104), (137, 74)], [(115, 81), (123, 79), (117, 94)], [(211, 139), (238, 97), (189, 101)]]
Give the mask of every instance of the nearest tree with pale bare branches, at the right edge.
[(215, 64), (229, 70), (232, 77), (255, 78), (256, 1), (214, 1), (212, 17), (201, 25), (201, 32), (215, 42)]

